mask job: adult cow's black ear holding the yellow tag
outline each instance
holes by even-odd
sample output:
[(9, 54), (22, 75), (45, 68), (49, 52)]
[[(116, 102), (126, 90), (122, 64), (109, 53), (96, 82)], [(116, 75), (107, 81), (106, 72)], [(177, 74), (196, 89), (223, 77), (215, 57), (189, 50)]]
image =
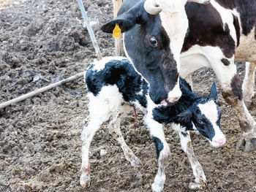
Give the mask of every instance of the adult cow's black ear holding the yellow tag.
[(112, 34), (113, 29), (118, 24), (119, 28), (121, 28), (121, 32), (128, 31), (133, 28), (136, 24), (136, 18), (134, 15), (131, 15), (129, 12), (124, 12), (113, 20), (108, 21), (107, 23), (101, 26), (101, 30), (105, 33)]

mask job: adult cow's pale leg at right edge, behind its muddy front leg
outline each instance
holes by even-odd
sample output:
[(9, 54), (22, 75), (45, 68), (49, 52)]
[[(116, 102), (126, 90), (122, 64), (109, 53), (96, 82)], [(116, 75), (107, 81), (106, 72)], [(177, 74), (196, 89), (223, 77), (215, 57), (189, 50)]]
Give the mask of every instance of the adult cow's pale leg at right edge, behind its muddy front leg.
[(255, 69), (256, 69), (256, 62), (246, 62), (245, 68), (245, 75), (244, 75), (244, 82), (243, 82), (243, 96), (244, 96), (244, 103), (246, 107), (252, 102), (252, 97), (255, 94)]

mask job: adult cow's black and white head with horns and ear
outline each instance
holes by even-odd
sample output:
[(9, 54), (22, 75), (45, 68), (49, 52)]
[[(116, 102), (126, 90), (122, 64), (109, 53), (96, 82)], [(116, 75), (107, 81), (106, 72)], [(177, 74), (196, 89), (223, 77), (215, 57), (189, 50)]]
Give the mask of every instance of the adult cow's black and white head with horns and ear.
[[(206, 3), (208, 0), (189, 0)], [(127, 57), (149, 83), (156, 104), (177, 101), (179, 57), (188, 29), (187, 0), (126, 0), (118, 17), (101, 29), (112, 33), (116, 24), (124, 33)]]

